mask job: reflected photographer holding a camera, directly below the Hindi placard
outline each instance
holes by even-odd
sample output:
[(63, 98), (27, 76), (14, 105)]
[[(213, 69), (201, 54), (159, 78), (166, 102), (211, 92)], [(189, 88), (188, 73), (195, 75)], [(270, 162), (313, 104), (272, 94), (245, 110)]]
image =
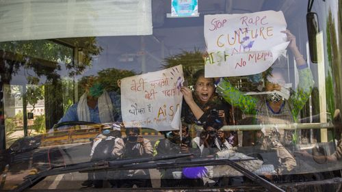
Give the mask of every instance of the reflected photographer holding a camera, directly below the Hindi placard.
[[(126, 128), (123, 159), (137, 159), (153, 156), (153, 147), (148, 139), (142, 137), (140, 128)], [(121, 172), (119, 187), (152, 187), (148, 169), (127, 170)]]

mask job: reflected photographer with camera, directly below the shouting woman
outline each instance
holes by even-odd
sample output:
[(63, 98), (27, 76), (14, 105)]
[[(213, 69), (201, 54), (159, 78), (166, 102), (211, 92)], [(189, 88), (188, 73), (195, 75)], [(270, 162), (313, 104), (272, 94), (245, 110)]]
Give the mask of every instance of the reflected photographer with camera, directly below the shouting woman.
[(224, 138), (224, 132), (220, 130), (222, 126), (223, 122), (221, 122), (218, 113), (212, 111), (203, 125), (204, 131), (200, 133), (200, 136), (192, 139), (195, 155), (213, 156), (218, 151), (233, 148)]

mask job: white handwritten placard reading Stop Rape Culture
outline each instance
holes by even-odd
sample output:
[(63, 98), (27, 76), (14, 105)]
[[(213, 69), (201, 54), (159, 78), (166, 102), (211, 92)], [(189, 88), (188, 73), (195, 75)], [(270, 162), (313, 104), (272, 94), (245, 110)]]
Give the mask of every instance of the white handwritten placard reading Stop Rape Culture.
[(289, 42), (282, 12), (205, 15), (205, 77), (235, 77), (267, 70)]

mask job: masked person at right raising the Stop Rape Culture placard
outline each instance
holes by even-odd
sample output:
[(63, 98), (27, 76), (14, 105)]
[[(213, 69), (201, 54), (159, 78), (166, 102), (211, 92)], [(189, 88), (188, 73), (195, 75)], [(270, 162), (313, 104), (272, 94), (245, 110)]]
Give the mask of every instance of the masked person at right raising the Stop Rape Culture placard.
[[(241, 109), (246, 115), (256, 115), (257, 119), (261, 120), (263, 124), (298, 122), (300, 110), (310, 97), (314, 84), (313, 75), (303, 55), (298, 50), (295, 36), (289, 30), (282, 31), (282, 33), (287, 34), (287, 39), (289, 40), (288, 48), (293, 53), (298, 68), (299, 83), (296, 90), (292, 90), (290, 94), (290, 90), (285, 87), (284, 69), (275, 68), (274, 66), (277, 66), (277, 64), (274, 64), (271, 68), (271, 73), (265, 77), (265, 91), (279, 91), (285, 94), (280, 95), (273, 92), (272, 94), (267, 94), (264, 98), (244, 95), (231, 85), (226, 78), (221, 78), (216, 88), (218, 94), (224, 100), (234, 107)], [(288, 96), (287, 98), (285, 97), (286, 95)], [(292, 132), (285, 132), (280, 140), (286, 146), (291, 146), (297, 138)]]

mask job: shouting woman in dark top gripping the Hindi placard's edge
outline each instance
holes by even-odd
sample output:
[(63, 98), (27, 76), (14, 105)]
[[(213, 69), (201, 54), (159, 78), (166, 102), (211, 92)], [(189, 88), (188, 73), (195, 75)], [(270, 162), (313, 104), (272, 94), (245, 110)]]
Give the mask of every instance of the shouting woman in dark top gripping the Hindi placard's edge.
[[(223, 125), (233, 124), (231, 118), (231, 105), (215, 94), (214, 79), (205, 78), (205, 70), (198, 70), (194, 74), (196, 83), (193, 93), (189, 87), (181, 87), (184, 100), (182, 107), (182, 118), (187, 124), (200, 124), (206, 121), (211, 111), (217, 111)], [(231, 135), (229, 135), (231, 136)], [(232, 133), (232, 136), (236, 136)], [(237, 138), (231, 137), (231, 141), (237, 143)]]

